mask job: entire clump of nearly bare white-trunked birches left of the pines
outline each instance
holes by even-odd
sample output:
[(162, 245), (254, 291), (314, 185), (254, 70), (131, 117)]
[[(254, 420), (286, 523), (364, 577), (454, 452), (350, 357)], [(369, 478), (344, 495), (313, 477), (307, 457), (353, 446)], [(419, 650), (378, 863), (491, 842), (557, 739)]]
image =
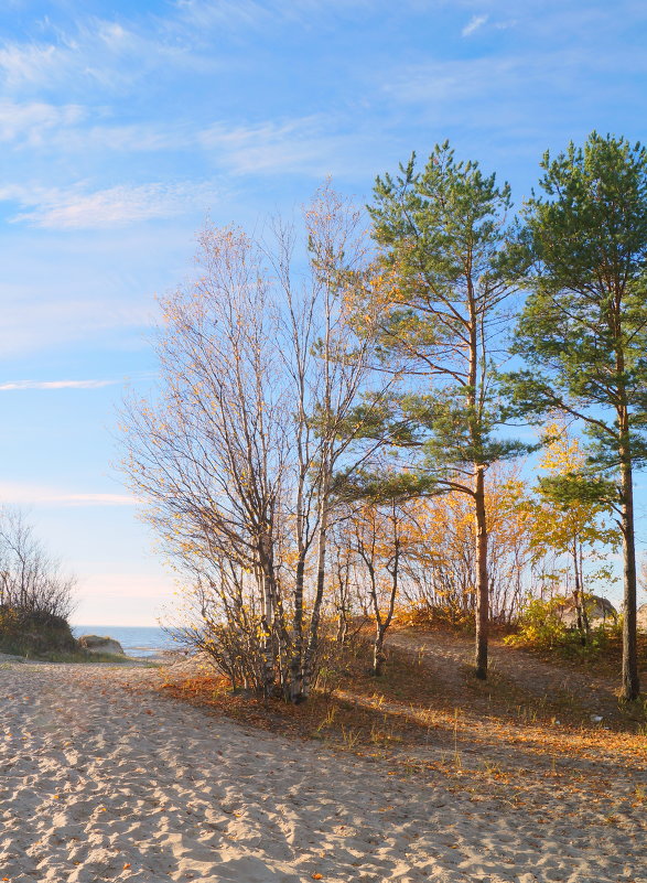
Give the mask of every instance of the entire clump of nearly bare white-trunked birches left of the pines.
[(347, 414), (371, 345), (346, 321), (358, 213), (324, 187), (304, 229), (296, 258), (280, 224), (262, 240), (204, 231), (201, 278), (162, 303), (157, 395), (123, 420), (126, 472), (200, 613), (188, 639), (294, 702), (316, 675), (332, 476), (353, 465)]

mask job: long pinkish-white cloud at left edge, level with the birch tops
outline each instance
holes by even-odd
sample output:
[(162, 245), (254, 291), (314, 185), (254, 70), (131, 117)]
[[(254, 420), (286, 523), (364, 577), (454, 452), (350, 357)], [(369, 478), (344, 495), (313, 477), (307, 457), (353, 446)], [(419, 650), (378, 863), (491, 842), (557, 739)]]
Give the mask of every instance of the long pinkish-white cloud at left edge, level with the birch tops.
[(51, 229), (105, 229), (170, 218), (206, 208), (216, 197), (212, 184), (183, 182), (118, 185), (90, 193), (82, 185), (71, 190), (9, 185), (0, 189), (0, 201), (23, 207), (11, 219)]

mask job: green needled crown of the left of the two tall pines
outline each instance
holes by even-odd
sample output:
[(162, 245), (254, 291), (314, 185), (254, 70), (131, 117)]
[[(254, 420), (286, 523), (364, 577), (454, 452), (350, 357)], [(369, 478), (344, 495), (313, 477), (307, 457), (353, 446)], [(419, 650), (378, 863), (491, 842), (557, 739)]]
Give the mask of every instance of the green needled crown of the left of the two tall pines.
[(422, 172), (412, 157), (400, 176), (378, 177), (369, 206), (391, 280), (377, 294), (382, 359), (431, 381), (424, 392), (395, 398), (395, 410), (401, 426), (414, 428), (425, 469), (439, 475), (528, 450), (496, 434), (505, 409), (490, 347), (510, 293), (502, 272), (509, 208), (509, 186), (457, 161), (447, 142)]

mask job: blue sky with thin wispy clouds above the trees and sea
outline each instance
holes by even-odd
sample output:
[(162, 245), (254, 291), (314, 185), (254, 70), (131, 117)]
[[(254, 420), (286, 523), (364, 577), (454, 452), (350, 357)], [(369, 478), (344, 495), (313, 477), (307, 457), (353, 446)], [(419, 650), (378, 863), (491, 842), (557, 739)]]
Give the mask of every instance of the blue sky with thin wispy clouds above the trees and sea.
[(646, 140), (646, 39), (643, 0), (4, 0), (0, 500), (77, 574), (75, 622), (173, 604), (117, 410), (206, 218), (254, 227), (328, 175), (365, 203), (445, 139), (519, 205), (544, 150)]

